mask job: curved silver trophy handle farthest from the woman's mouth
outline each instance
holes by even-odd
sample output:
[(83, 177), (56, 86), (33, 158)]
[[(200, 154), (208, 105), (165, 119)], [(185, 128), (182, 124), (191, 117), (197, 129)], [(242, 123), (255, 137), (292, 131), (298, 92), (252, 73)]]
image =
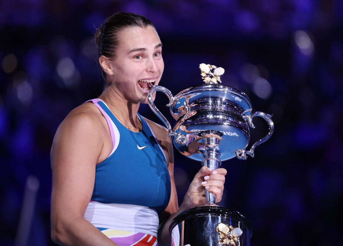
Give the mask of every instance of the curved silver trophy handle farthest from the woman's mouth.
[(248, 158), (247, 155), (249, 155), (251, 157), (254, 157), (255, 156), (254, 150), (255, 150), (256, 146), (258, 146), (258, 145), (262, 144), (263, 142), (267, 141), (272, 136), (272, 134), (274, 132), (274, 122), (271, 119), (271, 117), (272, 117), (271, 114), (266, 114), (266, 113), (257, 111), (255, 113), (251, 114), (250, 116), (243, 115), (243, 118), (247, 121), (248, 125), (251, 128), (255, 128), (255, 125), (252, 123), (252, 118), (254, 118), (255, 116), (260, 116), (265, 121), (267, 121), (268, 126), (269, 126), (269, 133), (267, 134), (267, 136), (261, 138), (255, 144), (253, 144), (249, 151), (245, 150), (245, 149), (238, 149), (238, 150), (236, 150), (236, 157), (238, 159), (246, 160)]

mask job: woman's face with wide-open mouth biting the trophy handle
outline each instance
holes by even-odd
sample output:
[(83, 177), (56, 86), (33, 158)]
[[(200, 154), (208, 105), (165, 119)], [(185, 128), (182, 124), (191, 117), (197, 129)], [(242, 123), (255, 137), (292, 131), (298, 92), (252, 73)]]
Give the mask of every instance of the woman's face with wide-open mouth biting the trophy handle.
[(111, 86), (121, 98), (147, 103), (149, 83), (157, 85), (164, 69), (161, 40), (150, 25), (126, 28), (119, 37), (115, 59), (109, 61)]

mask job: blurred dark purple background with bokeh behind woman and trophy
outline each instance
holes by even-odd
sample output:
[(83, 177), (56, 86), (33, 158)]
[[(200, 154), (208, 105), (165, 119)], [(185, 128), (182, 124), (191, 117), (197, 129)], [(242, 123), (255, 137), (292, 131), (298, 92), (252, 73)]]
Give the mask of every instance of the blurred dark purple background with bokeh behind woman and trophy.
[[(154, 23), (164, 45), (160, 84), (174, 95), (202, 84), (198, 65), (210, 63), (225, 68), (223, 84), (248, 94), (253, 111), (273, 114), (274, 135), (255, 158), (222, 164), (219, 205), (251, 222), (251, 244), (343, 245), (343, 2), (334, 0), (2, 0), (0, 244), (54, 245), (52, 139), (73, 108), (101, 93), (91, 39), (117, 11)], [(174, 125), (167, 98), (155, 103)], [(147, 105), (140, 113), (161, 123)], [(254, 123), (250, 143), (268, 132)], [(199, 168), (175, 152), (179, 202)]]

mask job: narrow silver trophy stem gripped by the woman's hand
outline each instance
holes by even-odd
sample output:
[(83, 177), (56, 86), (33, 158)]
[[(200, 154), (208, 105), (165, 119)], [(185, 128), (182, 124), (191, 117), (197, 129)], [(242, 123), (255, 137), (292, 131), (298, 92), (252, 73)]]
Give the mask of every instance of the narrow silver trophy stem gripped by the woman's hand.
[[(219, 156), (220, 156), (220, 152), (214, 150), (213, 148), (208, 148), (203, 154), (204, 159), (201, 162), (201, 164), (203, 166), (206, 166), (208, 168), (213, 168), (213, 170), (215, 170), (218, 167), (220, 167), (220, 165), (222, 164), (222, 162), (218, 159)], [(215, 196), (212, 193), (210, 193), (208, 190), (205, 190), (205, 194), (206, 194), (207, 205), (216, 206)]]

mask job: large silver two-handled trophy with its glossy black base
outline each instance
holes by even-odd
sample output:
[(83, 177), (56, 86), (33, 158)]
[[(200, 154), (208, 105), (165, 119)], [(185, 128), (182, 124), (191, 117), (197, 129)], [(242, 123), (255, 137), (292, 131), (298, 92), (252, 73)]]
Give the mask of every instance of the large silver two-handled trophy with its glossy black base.
[[(172, 136), (176, 149), (184, 156), (201, 161), (202, 165), (217, 169), (222, 161), (237, 157), (254, 157), (255, 147), (273, 134), (271, 115), (252, 111), (251, 101), (242, 91), (220, 85), (222, 67), (200, 64), (205, 84), (182, 90), (173, 96), (163, 86), (152, 86), (149, 106), (163, 121)], [(176, 120), (170, 123), (153, 103), (153, 94), (162, 91), (169, 98), (167, 107)], [(246, 150), (250, 140), (252, 119), (262, 117), (269, 125), (269, 133)], [(215, 196), (205, 191), (207, 204), (182, 212), (169, 226), (169, 232), (184, 221), (183, 244), (192, 246), (250, 245), (251, 225), (240, 213), (215, 204)], [(182, 244), (181, 244), (182, 245)]]

